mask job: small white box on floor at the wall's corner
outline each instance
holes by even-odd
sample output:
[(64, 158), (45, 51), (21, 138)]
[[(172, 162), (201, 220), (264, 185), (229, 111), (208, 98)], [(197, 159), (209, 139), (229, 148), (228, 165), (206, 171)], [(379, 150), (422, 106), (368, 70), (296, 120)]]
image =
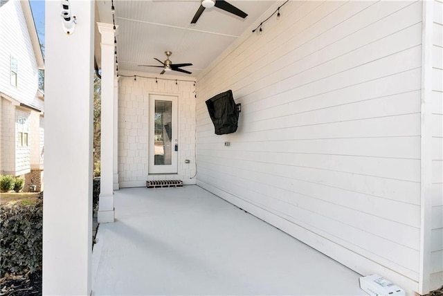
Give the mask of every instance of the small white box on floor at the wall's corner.
[(379, 275), (360, 277), (360, 288), (373, 296), (406, 296), (402, 288)]

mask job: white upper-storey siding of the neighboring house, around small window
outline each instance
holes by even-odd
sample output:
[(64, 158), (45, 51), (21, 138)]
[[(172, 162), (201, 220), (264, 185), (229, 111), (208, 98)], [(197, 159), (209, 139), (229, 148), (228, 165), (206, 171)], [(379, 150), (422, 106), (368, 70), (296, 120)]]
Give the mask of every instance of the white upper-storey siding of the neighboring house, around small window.
[[(37, 109), (43, 100), (37, 95), (38, 68), (26, 21), (18, 0), (10, 0), (0, 10), (0, 92)], [(17, 59), (17, 87), (10, 84), (10, 59)]]

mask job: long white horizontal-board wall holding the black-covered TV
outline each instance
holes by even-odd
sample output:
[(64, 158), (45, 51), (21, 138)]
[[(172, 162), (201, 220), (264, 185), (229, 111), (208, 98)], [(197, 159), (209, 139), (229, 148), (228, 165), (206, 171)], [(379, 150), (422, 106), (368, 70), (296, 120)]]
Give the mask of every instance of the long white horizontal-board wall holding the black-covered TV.
[[(422, 3), (289, 1), (280, 13), (199, 77), (197, 184), (412, 293)], [(239, 129), (215, 136), (204, 101), (228, 89)]]

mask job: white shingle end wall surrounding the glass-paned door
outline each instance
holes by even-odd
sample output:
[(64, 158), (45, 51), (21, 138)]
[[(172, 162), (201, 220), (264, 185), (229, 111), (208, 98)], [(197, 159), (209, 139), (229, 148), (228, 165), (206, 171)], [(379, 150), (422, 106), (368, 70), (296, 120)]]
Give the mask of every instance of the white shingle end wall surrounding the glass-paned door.
[[(146, 76), (146, 75), (144, 75)], [(170, 75), (165, 75), (170, 78)], [(180, 77), (178, 78), (180, 79)], [(181, 180), (195, 184), (194, 82), (155, 77), (121, 77), (118, 87), (118, 177), (120, 187), (143, 187), (147, 180)], [(148, 119), (150, 93), (177, 95), (179, 117), (178, 174), (148, 176)], [(190, 160), (189, 164), (185, 160)]]

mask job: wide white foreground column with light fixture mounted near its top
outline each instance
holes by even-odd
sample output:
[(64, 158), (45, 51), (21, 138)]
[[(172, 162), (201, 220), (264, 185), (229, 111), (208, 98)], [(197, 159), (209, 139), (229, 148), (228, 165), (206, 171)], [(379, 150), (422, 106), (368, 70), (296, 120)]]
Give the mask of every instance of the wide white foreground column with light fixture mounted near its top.
[(46, 1), (43, 295), (90, 295), (92, 248), (93, 1)]

